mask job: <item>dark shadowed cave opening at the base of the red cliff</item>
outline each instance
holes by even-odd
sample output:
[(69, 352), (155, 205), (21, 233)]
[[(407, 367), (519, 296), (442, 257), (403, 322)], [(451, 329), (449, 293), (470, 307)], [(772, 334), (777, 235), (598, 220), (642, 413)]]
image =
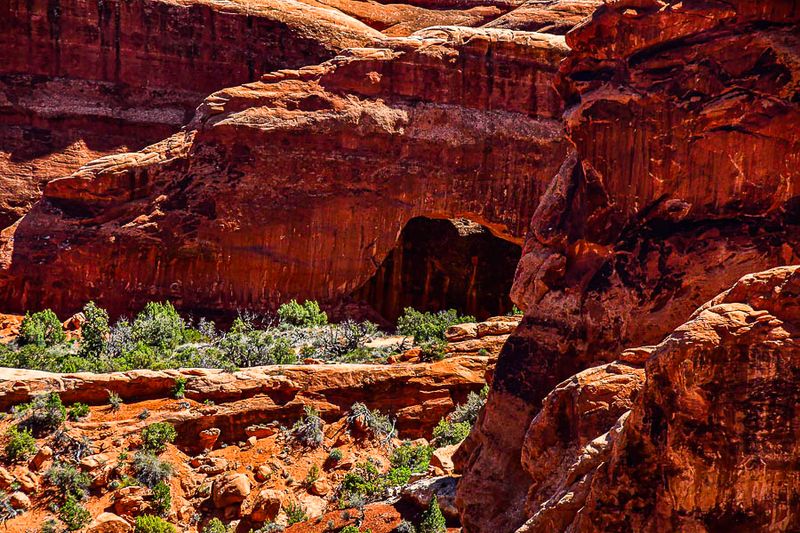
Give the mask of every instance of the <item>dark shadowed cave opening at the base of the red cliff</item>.
[(479, 320), (511, 311), (522, 249), (466, 219), (414, 218), (396, 247), (352, 296), (395, 323), (405, 307), (456, 309)]

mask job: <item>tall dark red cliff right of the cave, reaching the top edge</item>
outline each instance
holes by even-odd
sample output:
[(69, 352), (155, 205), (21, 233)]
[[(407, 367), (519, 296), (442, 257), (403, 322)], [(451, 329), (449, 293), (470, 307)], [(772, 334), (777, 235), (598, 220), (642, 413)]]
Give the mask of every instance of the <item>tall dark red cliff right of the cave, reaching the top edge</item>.
[(468, 531), (526, 518), (522, 443), (557, 383), (798, 261), (798, 20), (792, 1), (616, 1), (567, 35), (575, 151), (532, 219), (512, 292), (526, 318), (465, 445)]

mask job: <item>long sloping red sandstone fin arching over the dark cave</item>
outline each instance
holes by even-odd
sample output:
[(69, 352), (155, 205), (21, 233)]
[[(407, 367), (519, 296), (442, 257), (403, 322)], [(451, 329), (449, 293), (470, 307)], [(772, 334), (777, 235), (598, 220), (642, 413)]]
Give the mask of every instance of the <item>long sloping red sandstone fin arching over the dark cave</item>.
[(520, 242), (566, 151), (563, 38), (438, 28), (384, 44), (217, 92), (186, 132), (50, 182), (4, 234), (3, 301), (267, 309), (351, 294), (415, 216)]

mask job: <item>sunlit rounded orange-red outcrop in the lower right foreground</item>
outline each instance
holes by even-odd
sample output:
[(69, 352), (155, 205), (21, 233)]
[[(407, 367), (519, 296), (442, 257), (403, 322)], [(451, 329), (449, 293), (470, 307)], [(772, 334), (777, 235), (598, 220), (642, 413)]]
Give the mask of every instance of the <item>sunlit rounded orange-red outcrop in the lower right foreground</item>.
[(796, 530), (798, 289), (800, 267), (745, 276), (641, 352), (646, 380), (612, 363), (566, 382), (583, 406), (548, 395), (518, 531)]

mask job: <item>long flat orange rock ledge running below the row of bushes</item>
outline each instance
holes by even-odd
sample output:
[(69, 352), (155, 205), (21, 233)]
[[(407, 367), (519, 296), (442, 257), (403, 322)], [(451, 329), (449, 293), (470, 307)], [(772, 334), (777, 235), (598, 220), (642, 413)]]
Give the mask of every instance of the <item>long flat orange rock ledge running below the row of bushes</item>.
[[(394, 365), (288, 365), (255, 367), (235, 373), (221, 370), (134, 370), (109, 374), (50, 374), (0, 368), (0, 408), (28, 401), (45, 391), (65, 403), (105, 405), (108, 391), (123, 401), (170, 397), (178, 378), (186, 397), (222, 405), (179, 410), (169, 421), (180, 430), (182, 446), (202, 451), (203, 432), (216, 428), (214, 444), (244, 441), (254, 424), (293, 423), (303, 406), (317, 408), (327, 420), (343, 416), (355, 402), (391, 412), (404, 438), (430, 437), (436, 423), (470, 391), (479, 390), (490, 358), (452, 357), (435, 363)], [(224, 403), (223, 403), (224, 402)], [(141, 422), (140, 422), (141, 425)]]

